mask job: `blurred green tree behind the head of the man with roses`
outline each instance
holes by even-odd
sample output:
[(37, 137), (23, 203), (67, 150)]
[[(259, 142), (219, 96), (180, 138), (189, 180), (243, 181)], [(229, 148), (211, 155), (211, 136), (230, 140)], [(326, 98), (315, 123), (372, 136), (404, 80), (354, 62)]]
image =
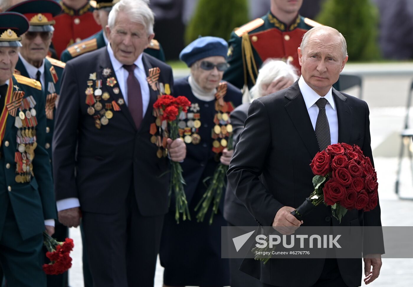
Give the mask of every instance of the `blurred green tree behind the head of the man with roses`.
[(316, 21), (343, 34), (350, 61), (367, 62), (381, 59), (378, 19), (370, 0), (325, 0)]

